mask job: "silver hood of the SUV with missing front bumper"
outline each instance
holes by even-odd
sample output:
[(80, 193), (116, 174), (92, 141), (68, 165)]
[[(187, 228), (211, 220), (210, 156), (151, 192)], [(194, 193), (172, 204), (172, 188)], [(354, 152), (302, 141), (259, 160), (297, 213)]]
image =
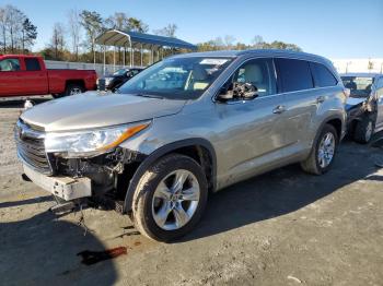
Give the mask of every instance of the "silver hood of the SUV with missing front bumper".
[(149, 98), (126, 94), (88, 92), (34, 106), (21, 118), (45, 131), (92, 129), (170, 116), (186, 100)]

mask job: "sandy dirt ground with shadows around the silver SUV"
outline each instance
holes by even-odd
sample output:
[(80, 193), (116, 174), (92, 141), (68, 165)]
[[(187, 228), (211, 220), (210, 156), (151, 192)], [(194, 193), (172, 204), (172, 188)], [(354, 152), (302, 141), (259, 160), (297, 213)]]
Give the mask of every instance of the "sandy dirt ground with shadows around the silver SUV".
[[(322, 177), (289, 166), (210, 198), (197, 229), (156, 243), (114, 212), (55, 217), (55, 203), (21, 180), (12, 129), (18, 103), (0, 106), (1, 285), (383, 285), (383, 170), (375, 148), (345, 142)], [(84, 265), (77, 253), (127, 247)]]

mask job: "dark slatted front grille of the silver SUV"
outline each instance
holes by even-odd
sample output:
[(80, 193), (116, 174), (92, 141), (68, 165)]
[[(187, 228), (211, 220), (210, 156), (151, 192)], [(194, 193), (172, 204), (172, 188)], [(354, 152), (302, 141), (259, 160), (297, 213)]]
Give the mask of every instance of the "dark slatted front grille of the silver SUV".
[(51, 175), (51, 167), (44, 146), (44, 132), (18, 121), (14, 136), (20, 158), (36, 170)]

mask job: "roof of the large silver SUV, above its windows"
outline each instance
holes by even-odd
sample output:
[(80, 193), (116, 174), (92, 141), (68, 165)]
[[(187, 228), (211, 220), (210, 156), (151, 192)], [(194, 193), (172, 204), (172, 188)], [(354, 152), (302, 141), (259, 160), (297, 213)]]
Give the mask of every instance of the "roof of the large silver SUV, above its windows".
[[(330, 63), (332, 62), (321, 56), (293, 51), (293, 50), (283, 50), (283, 49), (248, 49), (248, 50), (217, 50), (217, 51), (202, 51), (202, 52), (189, 52), (181, 53), (173, 56), (172, 58), (188, 58), (188, 57), (229, 57), (235, 58), (240, 56), (253, 56), (253, 57), (287, 57), (287, 58), (297, 58), (301, 60), (309, 61), (318, 61)], [(332, 64), (333, 65), (333, 64)]]

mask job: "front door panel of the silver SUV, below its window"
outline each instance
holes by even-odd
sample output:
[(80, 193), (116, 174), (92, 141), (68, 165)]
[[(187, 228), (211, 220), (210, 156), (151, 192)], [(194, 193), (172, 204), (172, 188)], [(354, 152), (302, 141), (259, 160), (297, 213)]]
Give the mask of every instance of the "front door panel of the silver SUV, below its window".
[(217, 104), (220, 119), (217, 150), (220, 170), (228, 184), (248, 178), (267, 164), (280, 159), (286, 145), (282, 117), (274, 114), (282, 96), (265, 96), (233, 104)]

